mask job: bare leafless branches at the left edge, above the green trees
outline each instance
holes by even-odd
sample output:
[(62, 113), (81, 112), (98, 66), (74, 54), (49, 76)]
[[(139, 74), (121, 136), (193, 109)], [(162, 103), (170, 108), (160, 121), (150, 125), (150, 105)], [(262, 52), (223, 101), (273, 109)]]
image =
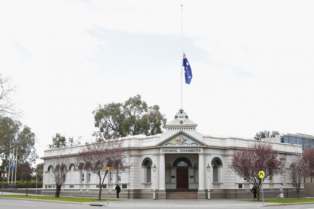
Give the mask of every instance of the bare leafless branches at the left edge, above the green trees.
[(18, 117), (21, 110), (14, 103), (11, 94), (15, 93), (17, 85), (15, 85), (10, 77), (2, 77), (0, 74), (0, 115), (9, 117)]

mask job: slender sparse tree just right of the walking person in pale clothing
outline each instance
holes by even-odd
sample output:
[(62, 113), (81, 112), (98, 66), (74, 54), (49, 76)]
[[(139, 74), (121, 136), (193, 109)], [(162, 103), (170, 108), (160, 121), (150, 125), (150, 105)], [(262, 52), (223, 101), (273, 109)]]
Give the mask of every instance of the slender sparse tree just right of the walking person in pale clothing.
[(303, 154), (294, 154), (287, 160), (286, 173), (293, 187), (295, 187), (297, 198), (299, 199), (300, 189), (305, 180), (311, 176), (311, 165)]

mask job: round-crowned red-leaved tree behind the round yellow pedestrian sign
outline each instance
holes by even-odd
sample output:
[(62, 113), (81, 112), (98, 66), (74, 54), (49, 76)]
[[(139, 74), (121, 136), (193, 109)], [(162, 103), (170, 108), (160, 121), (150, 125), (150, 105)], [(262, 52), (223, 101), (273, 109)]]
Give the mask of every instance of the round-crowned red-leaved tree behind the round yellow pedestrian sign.
[[(273, 149), (268, 142), (251, 144), (244, 149), (237, 149), (233, 154), (230, 170), (242, 178), (245, 177), (252, 185), (256, 185), (257, 200), (259, 200), (262, 181), (269, 176), (285, 172), (285, 157), (280, 157), (279, 151)], [(265, 172), (263, 179), (258, 176), (261, 170)]]

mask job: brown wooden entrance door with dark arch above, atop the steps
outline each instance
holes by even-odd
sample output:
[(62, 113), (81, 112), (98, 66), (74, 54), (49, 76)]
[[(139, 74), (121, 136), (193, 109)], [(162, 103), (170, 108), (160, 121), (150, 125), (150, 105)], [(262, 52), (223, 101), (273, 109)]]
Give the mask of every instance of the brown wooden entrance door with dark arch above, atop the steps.
[(173, 164), (176, 167), (176, 188), (189, 188), (189, 167), (192, 167), (190, 160), (187, 158), (178, 158)]

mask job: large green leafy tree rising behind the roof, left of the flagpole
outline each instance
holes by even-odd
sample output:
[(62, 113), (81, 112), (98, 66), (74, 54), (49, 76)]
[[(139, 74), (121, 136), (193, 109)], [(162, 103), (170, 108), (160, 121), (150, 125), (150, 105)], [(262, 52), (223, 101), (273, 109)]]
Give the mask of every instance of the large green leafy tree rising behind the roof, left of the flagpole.
[(140, 95), (130, 97), (124, 103), (99, 105), (93, 114), (95, 127), (99, 128), (93, 135), (106, 139), (162, 133), (167, 122), (165, 115), (160, 112), (160, 107), (149, 107)]

